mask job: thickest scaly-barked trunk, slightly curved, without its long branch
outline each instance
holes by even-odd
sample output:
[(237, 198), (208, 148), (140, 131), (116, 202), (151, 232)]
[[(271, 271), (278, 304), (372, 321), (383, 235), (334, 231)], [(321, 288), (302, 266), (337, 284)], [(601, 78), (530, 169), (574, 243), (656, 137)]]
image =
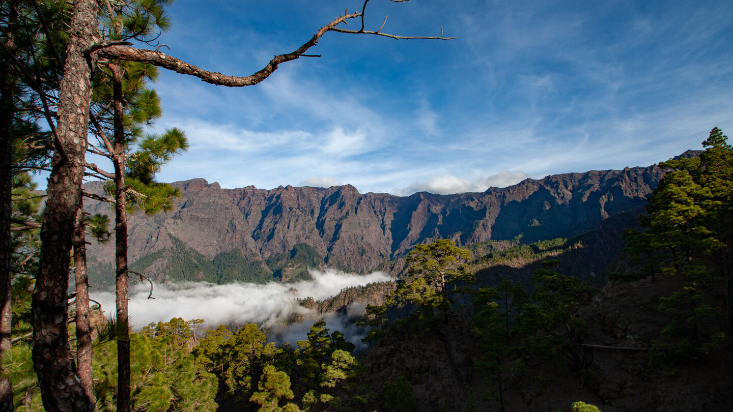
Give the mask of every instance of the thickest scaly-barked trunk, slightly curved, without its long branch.
[(92, 411), (71, 356), (67, 331), (69, 252), (84, 177), (92, 67), (84, 49), (95, 42), (97, 1), (74, 2), (70, 45), (59, 87), (56, 154), (48, 178), (40, 269), (33, 293), (33, 363), (47, 412)]

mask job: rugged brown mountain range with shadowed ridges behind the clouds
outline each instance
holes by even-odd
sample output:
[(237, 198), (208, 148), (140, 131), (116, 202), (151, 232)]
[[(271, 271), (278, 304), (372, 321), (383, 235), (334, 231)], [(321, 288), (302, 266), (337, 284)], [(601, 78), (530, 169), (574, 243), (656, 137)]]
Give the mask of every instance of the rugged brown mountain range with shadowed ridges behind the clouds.
[[(129, 257), (133, 270), (159, 282), (292, 281), (306, 278), (306, 268), (367, 273), (439, 238), (468, 246), (589, 232), (643, 207), (662, 176), (658, 166), (633, 167), (411, 196), (360, 194), (352, 185), (226, 189), (186, 180), (172, 183), (183, 194), (172, 212), (130, 217)], [(86, 185), (101, 190), (102, 183)], [(86, 210), (111, 214), (99, 202), (87, 201)], [(114, 284), (114, 243), (93, 244), (89, 256), (92, 284)]]

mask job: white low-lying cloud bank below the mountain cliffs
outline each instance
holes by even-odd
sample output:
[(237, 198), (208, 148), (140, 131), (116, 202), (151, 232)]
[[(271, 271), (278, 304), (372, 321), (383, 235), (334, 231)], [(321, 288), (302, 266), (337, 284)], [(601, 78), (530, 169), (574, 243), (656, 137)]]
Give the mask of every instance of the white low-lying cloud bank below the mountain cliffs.
[[(296, 299), (312, 297), (323, 300), (339, 293), (347, 287), (374, 282), (386, 282), (391, 278), (383, 272), (369, 273), (359, 276), (341, 271), (309, 271), (313, 277), (310, 281), (295, 284), (210, 284), (207, 282), (181, 282), (171, 284), (155, 284), (152, 296), (148, 299), (150, 285), (136, 284), (130, 289), (130, 324), (139, 330), (150, 323), (167, 322), (173, 317), (184, 320), (203, 319), (208, 328), (216, 325), (257, 323), (264, 328), (273, 328), (281, 324), (290, 314), (314, 315), (309, 309), (298, 305)], [(102, 304), (106, 315), (114, 315), (114, 293), (93, 293), (92, 299)], [(350, 311), (359, 310), (363, 306), (354, 306)], [(327, 317), (330, 325), (342, 325), (342, 320)], [(306, 321), (305, 331), (312, 325)], [(342, 331), (341, 328), (336, 328)], [(335, 329), (334, 329), (335, 330)], [(333, 330), (332, 330), (333, 331)], [(344, 331), (342, 331), (345, 333)], [(346, 334), (346, 333), (345, 333)], [(279, 340), (291, 342), (284, 333)], [(300, 334), (299, 334), (300, 335)], [(304, 334), (303, 334), (304, 336)], [(298, 337), (298, 339), (302, 339)]]

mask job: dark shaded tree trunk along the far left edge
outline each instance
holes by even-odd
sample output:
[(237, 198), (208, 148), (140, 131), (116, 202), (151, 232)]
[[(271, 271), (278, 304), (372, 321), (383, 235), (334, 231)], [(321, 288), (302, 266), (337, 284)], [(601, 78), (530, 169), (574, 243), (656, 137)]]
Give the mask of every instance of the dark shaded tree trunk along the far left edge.
[[(15, 113), (12, 102), (12, 78), (5, 70), (7, 60), (0, 68), (0, 356), (10, 350), (10, 259), (12, 238), (10, 217), (12, 210), (12, 117)], [(12, 383), (0, 370), (0, 411), (12, 411)]]

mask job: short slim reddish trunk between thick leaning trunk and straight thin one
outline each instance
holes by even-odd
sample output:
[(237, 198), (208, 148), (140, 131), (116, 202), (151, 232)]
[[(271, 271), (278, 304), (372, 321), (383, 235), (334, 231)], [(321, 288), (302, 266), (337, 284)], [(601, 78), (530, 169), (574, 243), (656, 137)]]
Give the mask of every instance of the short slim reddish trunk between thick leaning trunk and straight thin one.
[(74, 280), (76, 285), (76, 367), (89, 402), (95, 403), (92, 380), (92, 330), (89, 327), (89, 279), (86, 271), (86, 226), (84, 204), (79, 204), (74, 231)]

